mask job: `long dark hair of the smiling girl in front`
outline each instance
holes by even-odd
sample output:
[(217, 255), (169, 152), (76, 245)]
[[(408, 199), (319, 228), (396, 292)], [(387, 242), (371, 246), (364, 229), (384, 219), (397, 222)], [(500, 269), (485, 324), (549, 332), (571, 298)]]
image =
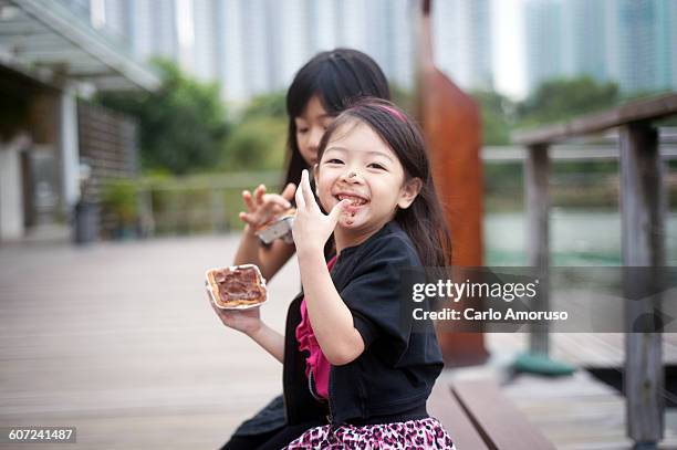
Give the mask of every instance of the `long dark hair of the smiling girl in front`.
[(406, 113), (383, 100), (357, 101), (329, 126), (320, 142), (317, 159), (322, 158), (336, 129), (355, 121), (369, 126), (390, 147), (404, 167), (405, 182), (412, 178), (421, 180), (420, 192), (414, 202), (395, 213), (395, 220), (414, 242), (421, 263), (436, 268), (451, 265), (451, 236), (435, 190), (426, 144), (420, 128)]

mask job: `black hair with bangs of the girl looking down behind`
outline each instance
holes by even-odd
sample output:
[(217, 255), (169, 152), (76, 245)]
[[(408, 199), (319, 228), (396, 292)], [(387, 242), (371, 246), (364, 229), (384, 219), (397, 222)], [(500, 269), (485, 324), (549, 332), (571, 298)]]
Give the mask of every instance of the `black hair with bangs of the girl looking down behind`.
[(335, 49), (317, 53), (294, 76), (287, 92), (289, 115), (287, 176), (289, 182), (299, 184), (301, 171), (308, 169), (299, 151), (295, 117), (303, 114), (308, 102), (316, 95), (324, 109), (337, 116), (360, 97), (390, 98), (388, 82), (376, 62), (357, 50)]

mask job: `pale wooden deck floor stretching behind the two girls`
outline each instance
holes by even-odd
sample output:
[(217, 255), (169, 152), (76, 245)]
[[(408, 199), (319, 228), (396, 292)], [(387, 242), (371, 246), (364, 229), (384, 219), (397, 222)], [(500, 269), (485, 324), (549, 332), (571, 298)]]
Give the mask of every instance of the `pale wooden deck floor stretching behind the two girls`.
[[(77, 427), (77, 444), (22, 449), (218, 448), (281, 391), (280, 364), (223, 327), (206, 300), (204, 271), (228, 264), (237, 242), (231, 236), (0, 248), (0, 427)], [(262, 314), (273, 327), (283, 328), (299, 286), (295, 262), (270, 283)], [(488, 336), (498, 364), (476, 371), (500, 376), (523, 337)], [(569, 342), (555, 355), (582, 357), (581, 346), (590, 344)], [(617, 357), (608, 348), (603, 357)], [(559, 448), (628, 448), (622, 397), (585, 373), (522, 376), (504, 391)], [(663, 448), (677, 448), (671, 416), (667, 428)]]

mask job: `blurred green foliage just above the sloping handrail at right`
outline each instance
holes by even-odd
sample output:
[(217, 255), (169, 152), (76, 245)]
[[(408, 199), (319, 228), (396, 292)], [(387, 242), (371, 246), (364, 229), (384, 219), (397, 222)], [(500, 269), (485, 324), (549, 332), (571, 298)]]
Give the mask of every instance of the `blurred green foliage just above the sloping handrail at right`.
[(519, 115), (522, 125), (535, 126), (605, 109), (619, 100), (615, 83), (597, 83), (590, 76), (551, 80), (520, 105)]

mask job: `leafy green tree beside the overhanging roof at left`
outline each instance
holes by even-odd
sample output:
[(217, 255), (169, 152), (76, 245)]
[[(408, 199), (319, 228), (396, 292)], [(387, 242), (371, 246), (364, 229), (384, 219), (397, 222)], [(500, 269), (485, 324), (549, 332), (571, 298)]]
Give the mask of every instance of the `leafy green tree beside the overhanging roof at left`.
[(190, 79), (169, 61), (154, 65), (163, 79), (157, 91), (102, 93), (97, 101), (138, 121), (144, 169), (185, 174), (213, 167), (228, 134), (217, 84)]

